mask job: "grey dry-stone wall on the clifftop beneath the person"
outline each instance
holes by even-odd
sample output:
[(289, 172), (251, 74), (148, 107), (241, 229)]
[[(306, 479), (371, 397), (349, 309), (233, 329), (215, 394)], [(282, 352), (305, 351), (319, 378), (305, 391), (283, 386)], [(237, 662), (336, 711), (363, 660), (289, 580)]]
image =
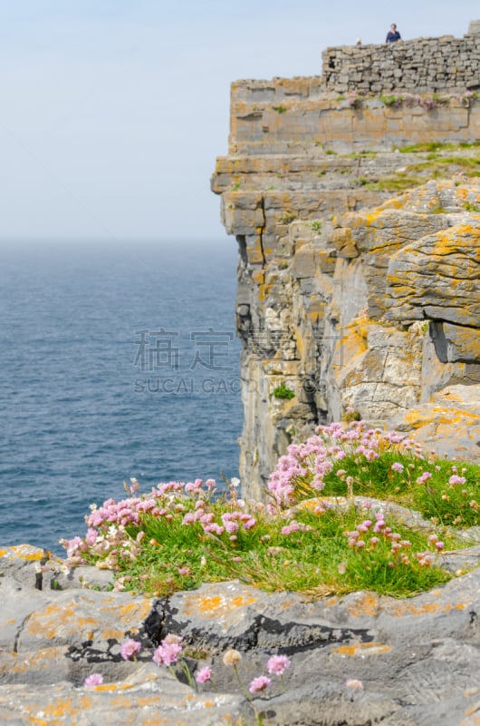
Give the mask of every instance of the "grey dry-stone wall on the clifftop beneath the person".
[(337, 93), (466, 93), (480, 89), (480, 21), (463, 38), (444, 35), (322, 53), (325, 90)]

